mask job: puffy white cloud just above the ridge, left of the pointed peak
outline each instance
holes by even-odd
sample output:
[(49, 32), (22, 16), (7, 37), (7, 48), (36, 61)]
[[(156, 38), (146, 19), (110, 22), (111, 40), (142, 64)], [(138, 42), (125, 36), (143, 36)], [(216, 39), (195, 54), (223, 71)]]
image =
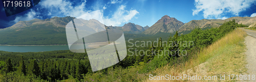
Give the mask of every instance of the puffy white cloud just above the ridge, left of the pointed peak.
[(139, 14), (136, 10), (125, 10), (126, 6), (121, 5), (113, 14), (112, 18), (104, 17), (104, 24), (107, 26), (118, 26), (121, 23), (129, 22), (135, 15)]

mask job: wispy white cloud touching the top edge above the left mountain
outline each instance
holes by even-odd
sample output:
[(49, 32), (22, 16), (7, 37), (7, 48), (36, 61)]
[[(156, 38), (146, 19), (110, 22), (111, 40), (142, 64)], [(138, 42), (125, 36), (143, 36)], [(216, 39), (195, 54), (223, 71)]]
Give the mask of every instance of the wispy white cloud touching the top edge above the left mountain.
[(46, 0), (40, 2), (40, 6), (43, 8), (47, 8), (51, 12), (49, 15), (55, 15), (55, 16), (71, 16), (71, 17), (78, 17), (81, 16), (84, 13), (87, 13), (87, 11), (84, 9), (86, 5), (86, 1), (82, 1), (80, 5), (72, 6), (72, 3), (65, 0)]

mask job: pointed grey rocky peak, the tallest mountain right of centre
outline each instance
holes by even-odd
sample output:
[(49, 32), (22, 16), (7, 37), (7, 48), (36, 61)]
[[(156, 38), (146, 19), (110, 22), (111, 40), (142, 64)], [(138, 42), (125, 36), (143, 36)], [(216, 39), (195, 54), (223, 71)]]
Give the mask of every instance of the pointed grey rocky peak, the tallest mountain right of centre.
[(150, 28), (146, 29), (143, 33), (144, 34), (156, 34), (158, 32), (168, 32), (173, 33), (180, 29), (184, 23), (177, 20), (176, 18), (170, 18), (169, 16), (165, 15), (161, 19), (159, 19), (154, 25)]

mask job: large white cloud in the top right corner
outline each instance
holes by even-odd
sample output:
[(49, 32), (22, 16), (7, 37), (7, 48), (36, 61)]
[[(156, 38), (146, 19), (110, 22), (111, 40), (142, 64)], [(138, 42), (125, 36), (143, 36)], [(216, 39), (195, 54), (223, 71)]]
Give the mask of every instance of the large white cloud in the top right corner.
[(193, 10), (193, 16), (197, 15), (199, 12), (203, 12), (204, 18), (207, 19), (223, 19), (226, 13), (231, 13), (233, 15), (239, 16), (241, 11), (246, 10), (255, 1), (245, 1), (245, 0), (195, 0), (196, 9)]

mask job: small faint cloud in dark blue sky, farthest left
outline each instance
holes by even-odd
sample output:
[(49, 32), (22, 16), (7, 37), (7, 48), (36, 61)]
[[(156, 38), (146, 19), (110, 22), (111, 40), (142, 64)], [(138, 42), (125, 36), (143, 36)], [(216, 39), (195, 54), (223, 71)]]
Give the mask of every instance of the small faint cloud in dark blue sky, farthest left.
[(18, 21), (29, 21), (35, 18), (40, 18), (39, 16), (36, 16), (37, 13), (33, 10), (30, 10), (30, 12), (24, 14), (23, 16), (16, 16), (14, 20), (10, 21), (10, 23), (15, 24)]

